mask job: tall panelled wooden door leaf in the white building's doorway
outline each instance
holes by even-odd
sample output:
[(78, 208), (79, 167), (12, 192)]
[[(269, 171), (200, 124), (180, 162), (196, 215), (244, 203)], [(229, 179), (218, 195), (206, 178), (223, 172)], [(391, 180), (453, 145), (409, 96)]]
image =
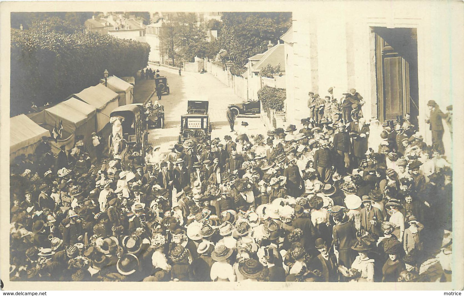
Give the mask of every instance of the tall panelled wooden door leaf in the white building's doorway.
[(379, 120), (395, 120), (409, 112), (409, 64), (378, 34), (375, 41)]

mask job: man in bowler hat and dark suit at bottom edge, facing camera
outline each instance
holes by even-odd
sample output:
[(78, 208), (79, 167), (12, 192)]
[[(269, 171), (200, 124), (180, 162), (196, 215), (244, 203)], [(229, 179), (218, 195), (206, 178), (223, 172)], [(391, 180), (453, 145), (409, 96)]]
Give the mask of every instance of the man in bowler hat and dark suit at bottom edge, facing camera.
[(338, 282), (337, 258), (329, 253), (324, 239), (316, 239), (316, 249), (320, 254), (311, 260), (309, 266), (312, 270), (321, 271), (323, 282)]

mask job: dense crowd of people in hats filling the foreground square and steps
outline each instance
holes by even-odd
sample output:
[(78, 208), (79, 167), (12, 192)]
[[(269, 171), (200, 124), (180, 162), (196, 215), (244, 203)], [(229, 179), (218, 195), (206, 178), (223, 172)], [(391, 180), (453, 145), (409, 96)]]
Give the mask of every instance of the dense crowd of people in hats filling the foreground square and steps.
[(383, 126), (353, 104), (97, 161), (43, 139), (11, 164), (11, 280), (427, 281), (451, 164), (410, 118)]

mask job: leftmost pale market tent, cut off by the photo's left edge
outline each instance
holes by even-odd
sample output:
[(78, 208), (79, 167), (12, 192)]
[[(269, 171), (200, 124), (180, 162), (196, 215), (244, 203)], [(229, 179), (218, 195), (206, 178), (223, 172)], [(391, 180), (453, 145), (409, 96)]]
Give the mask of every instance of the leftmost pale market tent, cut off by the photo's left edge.
[(34, 153), (44, 136), (50, 137), (50, 132), (26, 115), (10, 118), (10, 159), (23, 153)]

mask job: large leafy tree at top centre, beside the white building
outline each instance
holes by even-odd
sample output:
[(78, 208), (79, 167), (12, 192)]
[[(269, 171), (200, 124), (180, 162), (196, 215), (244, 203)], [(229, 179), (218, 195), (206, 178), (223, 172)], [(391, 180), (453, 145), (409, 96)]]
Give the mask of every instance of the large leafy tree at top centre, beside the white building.
[(228, 59), (243, 66), (248, 57), (277, 44), (291, 26), (291, 13), (224, 13), (219, 42), (229, 53)]

